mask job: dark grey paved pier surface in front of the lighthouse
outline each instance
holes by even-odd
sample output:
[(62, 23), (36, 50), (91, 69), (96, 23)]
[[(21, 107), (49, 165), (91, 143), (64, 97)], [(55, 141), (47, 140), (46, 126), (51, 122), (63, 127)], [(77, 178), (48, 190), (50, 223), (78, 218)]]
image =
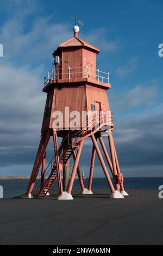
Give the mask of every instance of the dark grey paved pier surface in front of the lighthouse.
[(0, 202), (1, 245), (162, 245), (163, 199), (158, 190), (73, 194), (74, 200), (14, 198)]

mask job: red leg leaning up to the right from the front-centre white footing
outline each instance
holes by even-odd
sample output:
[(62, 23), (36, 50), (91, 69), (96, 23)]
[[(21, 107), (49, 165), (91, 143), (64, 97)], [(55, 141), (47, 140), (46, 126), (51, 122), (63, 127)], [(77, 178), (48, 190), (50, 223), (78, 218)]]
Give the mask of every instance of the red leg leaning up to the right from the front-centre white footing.
[(76, 171), (77, 171), (77, 168), (78, 168), (78, 163), (79, 163), (79, 159), (80, 159), (80, 154), (82, 152), (83, 143), (84, 143), (84, 139), (83, 139), (83, 141), (81, 141), (79, 143), (79, 149), (78, 149), (78, 152), (77, 152), (77, 157), (76, 157), (76, 160), (75, 160), (74, 165), (73, 165), (72, 174), (71, 174), (71, 178), (70, 178), (70, 183), (69, 183), (68, 189), (67, 189), (67, 192), (69, 194), (71, 194), (71, 191), (72, 191), (72, 186), (73, 186), (74, 178), (76, 176)]

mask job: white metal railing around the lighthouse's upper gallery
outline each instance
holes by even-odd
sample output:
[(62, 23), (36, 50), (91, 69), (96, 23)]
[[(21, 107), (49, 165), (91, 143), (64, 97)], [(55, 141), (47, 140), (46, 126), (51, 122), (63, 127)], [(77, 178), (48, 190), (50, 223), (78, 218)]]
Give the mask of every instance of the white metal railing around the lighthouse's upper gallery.
[(72, 78), (93, 78), (96, 81), (101, 81), (104, 83), (110, 84), (110, 73), (109, 72), (103, 72), (99, 69), (92, 69), (88, 66), (79, 66), (79, 67), (71, 67), (68, 66), (68, 68), (54, 68), (54, 65), (51, 69), (51, 71), (48, 72), (47, 76), (44, 77), (44, 86), (47, 86), (47, 84), (53, 80), (66, 80), (66, 79), (72, 79)]

